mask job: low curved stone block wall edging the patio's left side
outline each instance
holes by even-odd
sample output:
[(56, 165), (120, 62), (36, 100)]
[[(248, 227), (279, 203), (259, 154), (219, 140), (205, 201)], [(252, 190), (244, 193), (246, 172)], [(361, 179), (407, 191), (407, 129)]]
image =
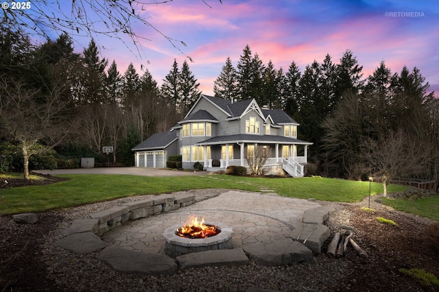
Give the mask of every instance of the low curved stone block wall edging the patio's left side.
[(126, 221), (177, 210), (194, 203), (194, 195), (176, 195), (174, 197), (159, 195), (150, 199), (121, 204), (120, 206), (91, 214), (91, 219), (97, 220), (97, 223), (93, 226), (93, 232), (100, 236), (108, 230), (117, 228)]

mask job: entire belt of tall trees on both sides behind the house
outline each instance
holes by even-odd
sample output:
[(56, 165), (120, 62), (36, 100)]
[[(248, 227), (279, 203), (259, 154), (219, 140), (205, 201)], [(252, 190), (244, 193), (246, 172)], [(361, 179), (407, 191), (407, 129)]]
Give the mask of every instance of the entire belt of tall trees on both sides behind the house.
[[(14, 156), (4, 155), (18, 151), (27, 155), (32, 167), (43, 164), (32, 160), (36, 154), (58, 157), (49, 161), (53, 167), (69, 167), (68, 158), (99, 158), (103, 146), (114, 147), (112, 163), (132, 165), (130, 149), (156, 132), (169, 130), (200, 97), (200, 83), (186, 61), (180, 66), (174, 60), (158, 86), (147, 69), (139, 74), (133, 64), (121, 73), (117, 60), (103, 58), (93, 39), (82, 53), (74, 53), (67, 34), (32, 45), (19, 27), (3, 24), (2, 28), (3, 166), (19, 165), (11, 161)], [(437, 180), (439, 103), (429, 93), (428, 82), (416, 67), (392, 73), (381, 62), (368, 77), (362, 70), (347, 50), (339, 62), (327, 55), (321, 64), (314, 61), (300, 71), (292, 61), (284, 72), (271, 60), (264, 64), (247, 45), (236, 68), (230, 57), (226, 59), (213, 91), (233, 101), (254, 98), (261, 107), (281, 108), (298, 121), (298, 138), (313, 142), (309, 173)], [(413, 165), (410, 170), (405, 167), (405, 173), (393, 170), (403, 167), (375, 164), (377, 157), (387, 163), (383, 145), (390, 141), (411, 145), (401, 147), (396, 155), (408, 159), (401, 165)], [(423, 149), (423, 155), (415, 149)], [(383, 169), (390, 170), (379, 173)]]

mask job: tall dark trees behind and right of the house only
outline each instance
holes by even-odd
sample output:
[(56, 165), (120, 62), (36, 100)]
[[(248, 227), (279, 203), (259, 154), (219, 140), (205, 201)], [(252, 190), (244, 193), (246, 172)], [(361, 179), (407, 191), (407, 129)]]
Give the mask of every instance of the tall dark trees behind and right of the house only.
[(418, 68), (392, 73), (382, 61), (372, 75), (346, 50), (339, 62), (327, 54), (300, 71), (264, 65), (250, 47), (237, 67), (227, 58), (215, 80), (215, 96), (254, 98), (263, 108), (281, 108), (310, 141), (308, 174), (367, 179), (438, 180), (439, 98)]

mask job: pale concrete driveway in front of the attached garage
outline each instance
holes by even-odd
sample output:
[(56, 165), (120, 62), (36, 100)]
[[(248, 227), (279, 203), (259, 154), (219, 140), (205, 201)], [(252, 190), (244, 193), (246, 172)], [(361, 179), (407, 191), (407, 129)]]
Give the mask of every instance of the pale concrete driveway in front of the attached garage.
[(41, 174), (126, 174), (143, 176), (187, 176), (204, 175), (206, 171), (177, 171), (168, 169), (154, 169), (148, 167), (96, 167), (91, 169), (42, 169), (34, 171)]

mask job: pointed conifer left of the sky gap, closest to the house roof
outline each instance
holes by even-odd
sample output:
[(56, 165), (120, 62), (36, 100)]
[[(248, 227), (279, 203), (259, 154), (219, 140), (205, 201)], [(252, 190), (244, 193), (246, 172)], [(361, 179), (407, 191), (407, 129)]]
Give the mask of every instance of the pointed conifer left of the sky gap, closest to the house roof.
[(198, 86), (200, 86), (200, 83), (197, 83), (185, 60), (180, 72), (180, 108), (182, 108), (182, 112), (189, 111), (198, 97), (200, 97), (201, 92), (198, 90)]

